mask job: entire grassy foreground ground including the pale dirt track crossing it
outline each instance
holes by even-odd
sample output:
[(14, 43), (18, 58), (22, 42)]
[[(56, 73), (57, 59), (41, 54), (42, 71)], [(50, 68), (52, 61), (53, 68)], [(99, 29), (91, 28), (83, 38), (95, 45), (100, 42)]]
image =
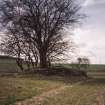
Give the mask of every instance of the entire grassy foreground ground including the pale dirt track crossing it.
[(105, 105), (104, 73), (90, 74), (88, 80), (41, 75), (0, 77), (0, 105)]

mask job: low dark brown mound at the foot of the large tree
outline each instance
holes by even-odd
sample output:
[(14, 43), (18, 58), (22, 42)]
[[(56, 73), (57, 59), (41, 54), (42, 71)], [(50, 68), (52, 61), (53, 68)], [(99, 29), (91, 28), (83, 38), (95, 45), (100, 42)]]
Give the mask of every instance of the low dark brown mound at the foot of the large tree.
[(45, 69), (38, 69), (35, 73), (42, 75), (59, 75), (59, 76), (84, 76), (87, 77), (87, 73), (82, 70), (69, 69), (65, 67), (52, 67)]

